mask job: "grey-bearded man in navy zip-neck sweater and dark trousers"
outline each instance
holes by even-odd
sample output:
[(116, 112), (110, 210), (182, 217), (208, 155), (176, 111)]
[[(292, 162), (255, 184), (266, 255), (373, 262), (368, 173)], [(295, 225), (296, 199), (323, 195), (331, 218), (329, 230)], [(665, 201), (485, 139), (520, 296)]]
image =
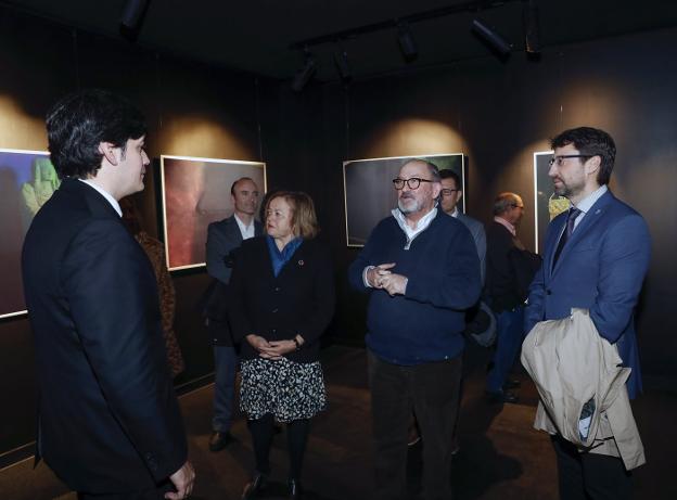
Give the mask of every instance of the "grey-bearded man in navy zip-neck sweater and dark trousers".
[(480, 297), (480, 259), (465, 226), (437, 209), (437, 167), (408, 162), (393, 184), (398, 207), (374, 228), (348, 271), (353, 287), (370, 294), (376, 498), (407, 497), (413, 410), (424, 443), (422, 498), (449, 499), (464, 310)]

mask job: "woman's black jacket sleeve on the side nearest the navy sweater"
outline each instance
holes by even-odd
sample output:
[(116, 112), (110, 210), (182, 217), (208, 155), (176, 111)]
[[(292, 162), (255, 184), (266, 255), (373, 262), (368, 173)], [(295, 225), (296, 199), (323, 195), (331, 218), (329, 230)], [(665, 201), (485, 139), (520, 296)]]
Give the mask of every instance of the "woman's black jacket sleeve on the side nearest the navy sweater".
[(334, 286), (334, 271), (329, 253), (321, 246), (316, 246), (317, 266), (312, 275), (312, 297), (310, 311), (306, 315), (298, 329), (298, 334), (307, 343), (316, 342), (334, 316), (336, 289)]

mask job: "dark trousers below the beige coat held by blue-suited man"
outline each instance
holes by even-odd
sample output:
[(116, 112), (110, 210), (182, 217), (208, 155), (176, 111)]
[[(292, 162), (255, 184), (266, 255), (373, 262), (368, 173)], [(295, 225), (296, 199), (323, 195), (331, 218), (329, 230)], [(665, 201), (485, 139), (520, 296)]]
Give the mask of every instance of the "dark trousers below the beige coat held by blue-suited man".
[(561, 436), (552, 436), (558, 461), (560, 500), (629, 500), (631, 474), (616, 457), (579, 453)]

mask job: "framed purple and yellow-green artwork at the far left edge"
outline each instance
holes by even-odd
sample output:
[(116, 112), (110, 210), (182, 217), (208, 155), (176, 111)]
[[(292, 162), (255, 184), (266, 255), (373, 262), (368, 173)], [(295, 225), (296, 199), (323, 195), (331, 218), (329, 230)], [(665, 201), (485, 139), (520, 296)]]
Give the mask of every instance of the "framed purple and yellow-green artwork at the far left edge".
[(47, 151), (0, 149), (0, 318), (26, 313), (21, 269), (24, 236), (60, 184)]

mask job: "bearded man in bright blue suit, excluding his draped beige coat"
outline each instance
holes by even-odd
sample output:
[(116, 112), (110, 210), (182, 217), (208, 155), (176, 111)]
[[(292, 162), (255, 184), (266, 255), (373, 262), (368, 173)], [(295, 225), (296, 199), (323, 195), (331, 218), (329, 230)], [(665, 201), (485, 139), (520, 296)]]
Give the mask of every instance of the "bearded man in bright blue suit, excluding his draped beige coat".
[[(609, 191), (616, 146), (603, 130), (580, 127), (552, 139), (549, 176), (572, 203), (548, 226), (544, 262), (528, 295), (525, 329), (588, 309), (599, 334), (615, 344), (626, 367), (630, 398), (641, 390), (634, 312), (651, 253), (644, 219)], [(626, 499), (630, 475), (613, 441), (579, 452), (553, 437), (560, 498)], [(603, 453), (603, 454), (600, 454)]]

